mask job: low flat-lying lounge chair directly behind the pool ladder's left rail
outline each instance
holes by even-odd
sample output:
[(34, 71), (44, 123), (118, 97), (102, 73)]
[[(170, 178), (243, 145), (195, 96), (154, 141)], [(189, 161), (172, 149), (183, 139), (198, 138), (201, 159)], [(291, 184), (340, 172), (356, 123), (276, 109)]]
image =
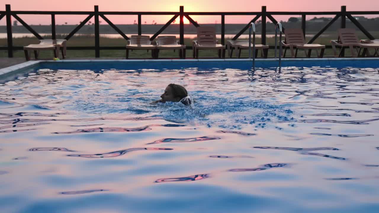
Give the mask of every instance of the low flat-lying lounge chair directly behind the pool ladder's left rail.
[[(226, 47), (228, 50), (229, 58), (232, 58), (233, 49), (236, 50), (236, 57), (241, 57), (241, 50), (249, 49), (249, 41), (248, 40), (228, 40), (226, 43)], [(262, 55), (267, 58), (268, 53), (268, 45), (263, 44), (255, 44), (255, 56), (258, 55), (258, 50), (261, 50)], [(251, 49), (253, 49), (253, 44), (251, 44)], [(253, 53), (254, 54), (254, 53)]]

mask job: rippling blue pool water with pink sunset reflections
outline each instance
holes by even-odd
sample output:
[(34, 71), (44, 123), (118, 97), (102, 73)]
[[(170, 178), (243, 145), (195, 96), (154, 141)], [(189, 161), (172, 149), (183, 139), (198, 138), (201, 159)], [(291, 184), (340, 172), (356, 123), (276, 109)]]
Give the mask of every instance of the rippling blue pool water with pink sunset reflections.
[[(1, 212), (378, 212), (379, 61), (0, 77)], [(169, 83), (194, 107), (151, 104)]]

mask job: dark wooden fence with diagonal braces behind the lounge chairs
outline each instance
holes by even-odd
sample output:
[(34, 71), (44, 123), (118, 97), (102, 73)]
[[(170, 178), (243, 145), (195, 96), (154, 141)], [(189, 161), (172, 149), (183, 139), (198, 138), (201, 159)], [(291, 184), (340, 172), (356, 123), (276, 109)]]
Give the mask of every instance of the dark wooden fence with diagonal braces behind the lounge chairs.
[[(262, 6), (262, 11), (259, 12), (184, 12), (184, 6), (179, 7), (179, 12), (101, 12), (99, 11), (99, 6), (94, 6), (94, 11), (12, 11), (11, 5), (5, 5), (5, 11), (0, 11), (0, 20), (3, 17), (6, 17), (6, 29), (7, 29), (7, 47), (0, 47), (0, 50), (8, 50), (8, 57), (13, 57), (13, 50), (22, 50), (23, 47), (13, 46), (13, 37), (12, 37), (12, 17), (14, 17), (19, 23), (21, 23), (30, 33), (34, 34), (38, 39), (44, 39), (39, 35), (33, 28), (31, 28), (26, 22), (24, 22), (18, 15), (19, 14), (44, 14), (51, 15), (51, 32), (52, 39), (56, 38), (55, 33), (55, 15), (88, 15), (74, 30), (71, 31), (66, 36), (66, 40), (69, 40), (81, 27), (83, 27), (92, 17), (95, 19), (94, 35), (95, 35), (95, 46), (94, 47), (68, 47), (68, 50), (95, 50), (96, 58), (100, 57), (100, 50), (123, 50), (125, 47), (100, 47), (100, 33), (99, 33), (99, 16), (102, 17), (105, 22), (107, 22), (114, 30), (117, 31), (125, 40), (129, 38), (122, 32), (116, 25), (114, 25), (106, 15), (137, 15), (138, 16), (138, 34), (142, 34), (141, 28), (141, 16), (142, 15), (172, 15), (172, 18), (163, 25), (151, 38), (153, 41), (157, 36), (162, 33), (177, 17), (180, 17), (180, 27), (179, 27), (179, 41), (180, 44), (184, 44), (184, 22), (183, 17), (189, 20), (195, 27), (200, 25), (195, 22), (190, 16), (221, 16), (221, 43), (225, 44), (225, 16), (255, 16), (249, 23), (246, 24), (244, 28), (238, 32), (232, 40), (238, 39), (241, 34), (243, 34), (248, 28), (251, 22), (255, 22), (259, 18), (262, 20), (262, 44), (266, 44), (266, 21), (267, 18), (271, 20), (274, 24), (277, 23), (277, 20), (274, 19), (274, 15), (298, 15), (301, 16), (301, 27), (305, 36), (305, 21), (306, 16), (316, 16), (316, 15), (334, 15), (334, 18), (329, 21), (318, 33), (316, 33), (312, 39), (308, 42), (311, 44), (314, 42), (327, 28), (330, 27), (338, 18), (341, 18), (341, 28), (346, 27), (346, 17), (354, 23), (354, 25), (359, 28), (369, 39), (375, 39), (352, 15), (373, 15), (379, 14), (379, 11), (346, 11), (346, 6), (341, 6), (341, 11), (332, 11), (332, 12), (271, 12), (266, 10), (266, 6)], [(379, 29), (379, 28), (378, 28)], [(330, 46), (327, 46), (330, 48)], [(191, 46), (187, 46), (186, 49), (191, 49)]]

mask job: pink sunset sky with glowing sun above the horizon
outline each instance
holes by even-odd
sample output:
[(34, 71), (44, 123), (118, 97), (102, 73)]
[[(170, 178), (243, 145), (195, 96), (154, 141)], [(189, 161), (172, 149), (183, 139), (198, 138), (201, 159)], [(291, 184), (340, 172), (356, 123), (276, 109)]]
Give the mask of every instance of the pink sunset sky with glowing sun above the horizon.
[[(136, 2), (136, 3), (130, 3)], [(231, 6), (231, 3), (235, 5)], [(248, 12), (260, 11), (261, 6), (267, 6), (268, 11), (339, 11), (341, 5), (346, 5), (347, 10), (370, 11), (379, 10), (379, 1), (373, 0), (0, 0), (0, 10), (5, 10), (5, 4), (11, 4), (12, 10), (41, 10), (41, 11), (93, 11), (94, 5), (99, 5), (100, 11), (179, 11), (183, 5), (187, 12)], [(50, 24), (49, 15), (20, 15), (28, 24)], [(86, 16), (61, 15), (56, 16), (56, 24), (78, 24)], [(115, 24), (130, 24), (137, 16), (107, 16)], [(150, 24), (154, 20), (157, 23), (166, 23), (172, 16), (142, 16), (142, 22)], [(220, 23), (221, 16), (191, 16), (199, 23)], [(288, 20), (289, 16), (274, 16), (279, 20)], [(329, 16), (330, 17), (330, 16)], [(376, 16), (375, 16), (376, 17)], [(307, 19), (312, 18), (307, 16)], [(226, 23), (247, 23), (251, 16), (226, 16)], [(100, 19), (101, 20), (101, 19)], [(93, 21), (93, 20), (92, 20)], [(179, 22), (179, 20), (177, 20)], [(103, 23), (105, 23), (103, 21)], [(186, 23), (186, 22), (185, 22)], [(0, 21), (5, 25), (5, 18)]]

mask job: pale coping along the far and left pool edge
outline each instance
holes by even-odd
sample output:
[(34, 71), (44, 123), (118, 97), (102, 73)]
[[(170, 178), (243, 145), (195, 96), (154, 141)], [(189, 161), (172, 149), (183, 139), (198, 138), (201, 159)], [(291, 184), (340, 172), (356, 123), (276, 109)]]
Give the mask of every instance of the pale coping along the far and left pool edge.
[[(282, 61), (369, 61), (369, 60), (379, 60), (379, 58), (282, 58)], [(2, 75), (8, 74), (10, 72), (31, 67), (39, 63), (80, 63), (80, 62), (219, 62), (219, 61), (253, 61), (253, 59), (141, 59), (141, 60), (38, 60), (38, 61), (26, 61), (21, 64), (6, 67), (0, 69), (0, 77)], [(255, 61), (279, 61), (277, 58), (257, 58)]]

